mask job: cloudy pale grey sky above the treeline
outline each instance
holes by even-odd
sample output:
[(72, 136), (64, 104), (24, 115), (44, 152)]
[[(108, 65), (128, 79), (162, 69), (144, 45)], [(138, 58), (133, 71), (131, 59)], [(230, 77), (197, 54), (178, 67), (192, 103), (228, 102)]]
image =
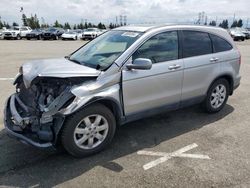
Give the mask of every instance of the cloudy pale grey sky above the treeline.
[[(204, 11), (208, 21), (249, 19), (250, 0), (0, 0), (1, 20), (21, 23), (20, 7), (29, 17), (37, 14), (40, 23), (84, 22), (108, 24), (126, 15), (127, 23), (194, 23)], [(43, 18), (43, 19), (42, 19)]]

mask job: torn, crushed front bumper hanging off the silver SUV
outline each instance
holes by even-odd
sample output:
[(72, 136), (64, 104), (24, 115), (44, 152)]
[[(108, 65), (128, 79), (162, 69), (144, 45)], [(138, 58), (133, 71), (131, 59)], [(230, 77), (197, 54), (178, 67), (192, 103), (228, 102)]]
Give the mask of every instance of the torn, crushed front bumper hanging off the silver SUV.
[[(39, 148), (51, 148), (53, 147), (52, 142), (42, 142), (34, 136), (34, 133), (27, 131), (22, 131), (22, 125), (25, 121), (28, 121), (28, 118), (23, 118), (18, 113), (16, 109), (16, 103), (20, 101), (17, 100), (16, 94), (10, 96), (6, 101), (4, 109), (4, 126), (10, 137), (16, 138), (17, 140), (33, 145)], [(24, 104), (21, 104), (21, 106)], [(25, 106), (22, 106), (25, 108)]]

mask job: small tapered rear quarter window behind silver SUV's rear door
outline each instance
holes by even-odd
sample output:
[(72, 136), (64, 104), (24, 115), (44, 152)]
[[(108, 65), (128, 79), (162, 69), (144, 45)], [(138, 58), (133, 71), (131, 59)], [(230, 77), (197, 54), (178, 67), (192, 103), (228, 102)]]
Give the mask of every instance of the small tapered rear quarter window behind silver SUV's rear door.
[(227, 42), (225, 39), (218, 37), (216, 35), (212, 35), (210, 34), (210, 37), (212, 39), (213, 42), (213, 47), (214, 47), (214, 52), (224, 52), (224, 51), (228, 51), (231, 50), (233, 47), (232, 45)]

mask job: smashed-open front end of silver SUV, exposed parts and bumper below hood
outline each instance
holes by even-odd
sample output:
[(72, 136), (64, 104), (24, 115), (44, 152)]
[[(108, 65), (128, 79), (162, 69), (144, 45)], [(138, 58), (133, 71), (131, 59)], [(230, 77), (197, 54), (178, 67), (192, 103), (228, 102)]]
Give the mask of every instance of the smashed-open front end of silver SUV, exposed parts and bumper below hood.
[(16, 93), (7, 100), (5, 128), (9, 135), (36, 147), (55, 146), (65, 115), (59, 113), (75, 99), (70, 92), (75, 85), (96, 77), (36, 77), (29, 87), (20, 75)]

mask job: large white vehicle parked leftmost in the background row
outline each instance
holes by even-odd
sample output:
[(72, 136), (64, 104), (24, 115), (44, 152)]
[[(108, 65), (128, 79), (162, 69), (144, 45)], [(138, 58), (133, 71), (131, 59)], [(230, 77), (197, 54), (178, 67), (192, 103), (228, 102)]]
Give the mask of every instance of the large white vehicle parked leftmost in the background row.
[(4, 39), (17, 39), (20, 40), (25, 38), (28, 33), (30, 33), (32, 29), (30, 27), (22, 26), (22, 27), (13, 27), (12, 29), (8, 29), (3, 32)]

